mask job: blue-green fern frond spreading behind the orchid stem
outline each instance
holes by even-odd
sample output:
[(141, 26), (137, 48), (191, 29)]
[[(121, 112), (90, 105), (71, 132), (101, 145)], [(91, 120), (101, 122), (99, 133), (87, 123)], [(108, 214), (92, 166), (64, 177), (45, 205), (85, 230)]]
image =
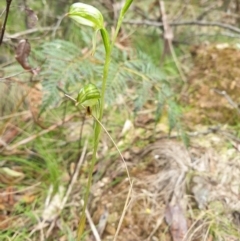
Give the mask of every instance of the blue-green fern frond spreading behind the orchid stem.
[[(89, 37), (84, 36), (82, 40), (89, 41)], [(73, 97), (77, 97), (79, 90), (89, 82), (100, 88), (103, 48), (98, 48), (93, 57), (82, 54), (71, 42), (53, 40), (43, 43), (39, 52), (42, 59), (46, 58), (41, 72), (44, 108), (61, 102), (63, 94), (58, 86)], [(129, 89), (134, 89), (135, 93), (130, 93)], [(125, 103), (132, 103), (136, 111), (142, 109), (147, 101), (157, 100), (158, 120), (162, 109), (169, 106), (167, 112), (170, 129), (178, 123), (181, 113), (171, 84), (166, 81), (164, 71), (141, 50), (127, 52), (114, 49), (112, 53), (106, 91), (107, 104), (116, 105), (119, 96), (124, 96)]]

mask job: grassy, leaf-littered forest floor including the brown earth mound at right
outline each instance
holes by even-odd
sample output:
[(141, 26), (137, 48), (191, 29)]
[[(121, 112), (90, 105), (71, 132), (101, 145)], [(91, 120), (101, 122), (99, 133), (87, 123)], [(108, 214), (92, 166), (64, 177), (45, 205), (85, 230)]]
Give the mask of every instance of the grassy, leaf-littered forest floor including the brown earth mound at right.
[[(181, 100), (188, 106), (183, 116), (188, 147), (179, 133), (168, 135), (164, 117), (155, 123), (152, 104), (121, 126), (114, 121), (121, 115), (118, 110), (117, 114), (112, 110), (115, 114), (106, 121), (133, 180), (119, 241), (240, 240), (239, 115), (226, 94), (231, 92), (231, 103), (237, 102), (239, 81), (237, 74), (229, 78), (226, 67), (231, 65), (227, 56), (233, 56), (232, 48), (208, 48), (197, 50), (188, 99)], [(227, 62), (219, 68), (219, 84), (210, 72), (213, 66), (202, 63), (212, 63), (221, 54)], [(91, 122), (90, 118), (85, 121), (84, 137)], [(82, 143), (84, 158), (69, 161), (79, 155), (81, 123), (69, 115), (31, 135), (25, 130), (39, 127), (32, 123), (29, 111), (1, 118), (0, 240), (75, 240), (91, 158), (91, 143)], [(69, 143), (75, 143), (74, 148)], [(99, 150), (85, 240), (98, 240), (96, 230), (100, 240), (113, 240), (129, 192), (124, 165), (106, 134)], [(72, 182), (77, 167), (78, 178)]]

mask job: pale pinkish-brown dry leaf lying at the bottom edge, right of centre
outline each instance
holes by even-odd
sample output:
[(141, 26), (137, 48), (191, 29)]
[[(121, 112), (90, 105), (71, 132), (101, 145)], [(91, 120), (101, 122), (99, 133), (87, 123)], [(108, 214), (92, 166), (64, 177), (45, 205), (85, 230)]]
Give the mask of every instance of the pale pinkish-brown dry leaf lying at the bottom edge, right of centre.
[(167, 205), (165, 219), (170, 226), (173, 241), (182, 241), (187, 234), (187, 220), (179, 204)]

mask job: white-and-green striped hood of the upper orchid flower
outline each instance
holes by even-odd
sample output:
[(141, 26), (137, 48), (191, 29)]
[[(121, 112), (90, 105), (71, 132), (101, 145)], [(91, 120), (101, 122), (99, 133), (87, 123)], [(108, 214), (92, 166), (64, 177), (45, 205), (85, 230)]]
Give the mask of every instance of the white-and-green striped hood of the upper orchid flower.
[(72, 4), (68, 16), (77, 23), (90, 26), (95, 30), (104, 27), (104, 20), (101, 12), (97, 8), (85, 3), (78, 2)]

